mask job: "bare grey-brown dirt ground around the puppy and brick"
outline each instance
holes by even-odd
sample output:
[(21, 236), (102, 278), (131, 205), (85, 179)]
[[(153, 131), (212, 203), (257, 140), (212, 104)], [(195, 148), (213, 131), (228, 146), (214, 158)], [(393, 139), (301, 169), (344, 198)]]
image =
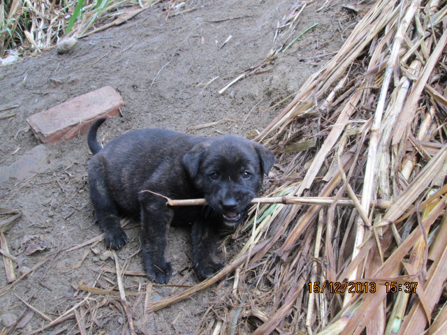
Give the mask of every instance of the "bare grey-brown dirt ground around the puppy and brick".
[[(277, 30), (288, 10), (305, 2), (298, 20)], [(17, 107), (8, 110), (15, 113), (13, 117), (0, 119), (0, 174), (40, 144), (29, 130), (27, 117), (107, 85), (122, 94), (126, 105), (122, 117), (101, 127), (98, 137), (104, 142), (138, 128), (205, 136), (261, 131), (309, 75), (337, 52), (360, 19), (361, 10), (356, 13), (342, 5), (346, 2), (187, 1), (184, 9), (196, 9), (170, 18), (163, 6), (156, 6), (126, 24), (80, 39), (68, 54), (52, 49), (1, 66), (0, 107)], [(284, 50), (316, 23), (285, 52), (276, 54), (273, 63), (265, 62), (274, 50)], [(261, 64), (266, 66), (258, 68), (256, 75), (219, 94), (237, 75)], [(205, 128), (190, 128), (212, 122)], [(86, 334), (129, 334), (110, 252), (101, 241), (71, 250), (101, 234), (89, 203), (86, 177), (91, 154), (86, 138), (45, 147), (50, 153), (47, 170), (0, 184), (0, 207), (22, 212), (22, 218), (5, 232), (10, 254), (17, 258), (17, 278), (20, 271), (31, 269), (14, 285), (7, 285), (1, 263), (1, 321), (3, 326), (8, 320), (16, 322), (1, 334), (36, 334), (32, 332), (49, 323), (38, 311), (54, 320), (87, 296), (76, 309), (78, 323), (72, 316), (39, 334), (78, 334), (82, 327)], [(144, 274), (138, 223), (129, 223), (126, 232), (129, 243), (117, 251), (118, 262), (127, 271)], [(226, 262), (242, 243), (230, 239), (222, 254)], [(198, 283), (191, 269), (189, 231), (172, 228), (168, 244), (167, 258), (174, 269), (170, 284)], [(219, 299), (219, 289), (232, 285), (228, 278), (191, 299), (147, 313), (145, 301), (168, 297), (182, 288), (148, 283), (144, 275), (126, 275), (123, 281), (138, 334), (195, 334), (208, 303)], [(103, 291), (87, 292), (80, 285)], [(38, 311), (31, 311), (20, 299)]]

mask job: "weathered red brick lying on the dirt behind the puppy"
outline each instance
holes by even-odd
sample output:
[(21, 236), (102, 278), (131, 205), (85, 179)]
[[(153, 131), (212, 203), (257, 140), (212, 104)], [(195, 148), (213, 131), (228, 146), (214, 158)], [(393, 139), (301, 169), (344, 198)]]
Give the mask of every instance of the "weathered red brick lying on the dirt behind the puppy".
[(27, 121), (38, 139), (54, 144), (85, 135), (96, 119), (115, 116), (123, 106), (119, 93), (106, 86), (31, 115)]

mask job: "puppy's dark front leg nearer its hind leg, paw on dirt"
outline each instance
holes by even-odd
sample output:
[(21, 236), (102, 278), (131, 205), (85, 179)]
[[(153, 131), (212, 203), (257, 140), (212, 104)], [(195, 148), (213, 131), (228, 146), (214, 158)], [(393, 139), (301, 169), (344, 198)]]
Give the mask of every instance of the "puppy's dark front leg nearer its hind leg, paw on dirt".
[(173, 267), (166, 262), (166, 235), (173, 220), (173, 210), (158, 195), (141, 193), (142, 259), (147, 276), (159, 284), (168, 283)]

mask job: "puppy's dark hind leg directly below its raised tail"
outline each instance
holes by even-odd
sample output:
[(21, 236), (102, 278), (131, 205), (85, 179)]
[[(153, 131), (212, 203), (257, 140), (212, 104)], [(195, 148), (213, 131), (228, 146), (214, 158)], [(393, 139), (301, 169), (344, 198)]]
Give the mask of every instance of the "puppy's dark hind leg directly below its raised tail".
[(104, 232), (105, 246), (121, 248), (126, 244), (127, 235), (121, 228), (117, 207), (108, 192), (102, 164), (92, 161), (88, 176), (91, 204), (95, 209), (96, 220)]

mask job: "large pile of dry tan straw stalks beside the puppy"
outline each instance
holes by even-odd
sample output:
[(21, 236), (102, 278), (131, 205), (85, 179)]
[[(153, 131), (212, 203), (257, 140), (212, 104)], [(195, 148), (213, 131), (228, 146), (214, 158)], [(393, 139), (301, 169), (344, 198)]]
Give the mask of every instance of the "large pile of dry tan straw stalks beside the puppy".
[(446, 12), (376, 1), (257, 137), (269, 195), (328, 206), (259, 204), (233, 262), (152, 311), (235, 270), (197, 334), (446, 334)]

